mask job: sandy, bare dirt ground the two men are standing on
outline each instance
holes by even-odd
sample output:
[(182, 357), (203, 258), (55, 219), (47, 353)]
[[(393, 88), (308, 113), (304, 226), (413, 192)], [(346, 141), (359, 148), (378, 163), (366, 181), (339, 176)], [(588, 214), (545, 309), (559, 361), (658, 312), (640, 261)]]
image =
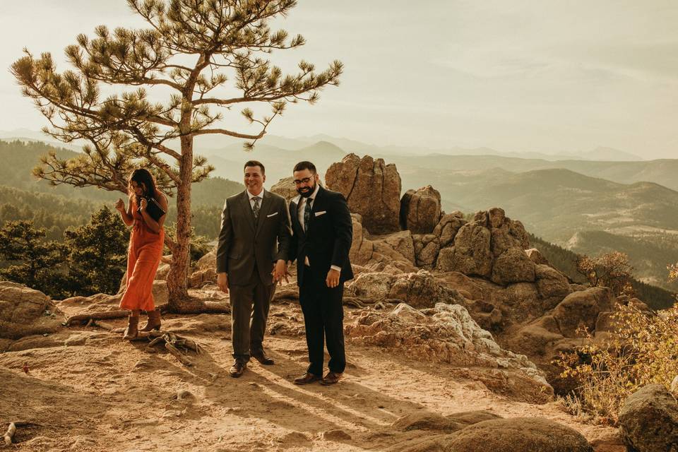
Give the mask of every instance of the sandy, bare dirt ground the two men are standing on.
[(0, 355), (1, 428), (17, 420), (38, 425), (18, 429), (17, 444), (5, 450), (377, 451), (430, 434), (399, 432), (392, 427), (398, 417), (469, 410), (547, 417), (581, 432), (597, 452), (625, 450), (616, 430), (579, 422), (558, 403), (509, 400), (451, 376), (458, 372), (449, 366), (392, 351), (347, 345), (338, 385), (295, 386), (292, 379), (307, 366), (299, 307), (273, 304), (269, 325), (278, 331), (266, 340), (275, 365), (253, 360), (239, 379), (228, 375), (227, 315), (164, 319), (163, 329), (203, 345), (194, 367), (99, 328), (64, 328), (15, 343), (26, 350)]

